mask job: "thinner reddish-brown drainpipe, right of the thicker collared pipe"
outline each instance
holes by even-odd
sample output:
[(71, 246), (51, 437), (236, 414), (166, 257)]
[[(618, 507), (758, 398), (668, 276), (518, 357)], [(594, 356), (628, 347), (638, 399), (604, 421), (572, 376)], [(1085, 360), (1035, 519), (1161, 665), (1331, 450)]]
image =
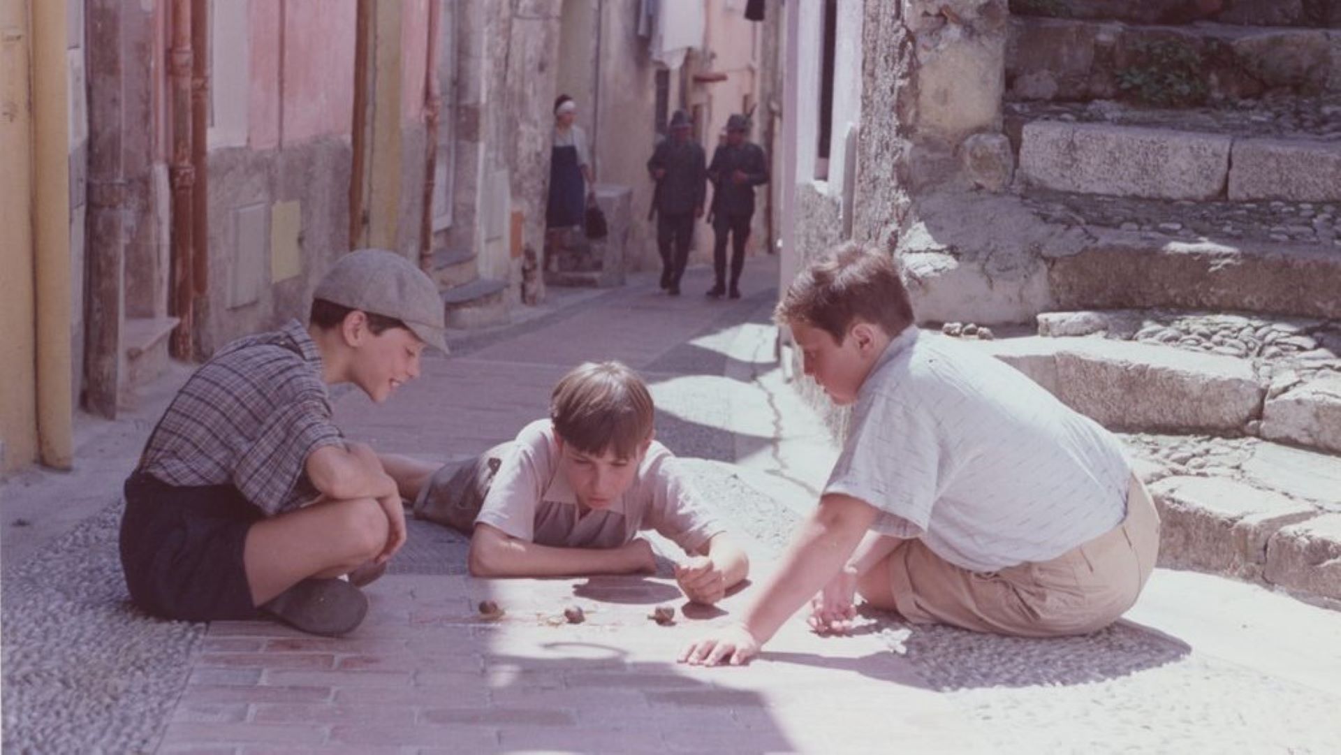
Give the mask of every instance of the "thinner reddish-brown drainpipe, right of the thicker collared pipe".
[[(209, 0), (190, 4), (190, 165), (196, 181), (190, 190), (192, 302), (205, 296), (209, 283)], [(192, 304), (192, 312), (194, 312)], [(189, 331), (188, 331), (189, 333)]]

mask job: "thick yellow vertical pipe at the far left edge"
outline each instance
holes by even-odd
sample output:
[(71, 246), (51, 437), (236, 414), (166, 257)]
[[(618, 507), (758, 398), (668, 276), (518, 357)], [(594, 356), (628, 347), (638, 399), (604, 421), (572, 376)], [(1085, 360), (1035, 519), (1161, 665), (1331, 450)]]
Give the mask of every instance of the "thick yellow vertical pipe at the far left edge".
[(32, 8), (32, 249), (36, 283), (38, 455), (74, 463), (70, 365), (70, 107), (66, 3)]

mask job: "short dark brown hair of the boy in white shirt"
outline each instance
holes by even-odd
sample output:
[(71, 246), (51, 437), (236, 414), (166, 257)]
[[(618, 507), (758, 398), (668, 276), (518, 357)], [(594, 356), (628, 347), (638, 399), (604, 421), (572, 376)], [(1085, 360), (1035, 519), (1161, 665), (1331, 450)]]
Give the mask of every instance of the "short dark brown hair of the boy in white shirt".
[(913, 306), (894, 260), (873, 247), (848, 241), (810, 262), (778, 302), (774, 319), (823, 330), (842, 343), (854, 321), (898, 335), (912, 325)]

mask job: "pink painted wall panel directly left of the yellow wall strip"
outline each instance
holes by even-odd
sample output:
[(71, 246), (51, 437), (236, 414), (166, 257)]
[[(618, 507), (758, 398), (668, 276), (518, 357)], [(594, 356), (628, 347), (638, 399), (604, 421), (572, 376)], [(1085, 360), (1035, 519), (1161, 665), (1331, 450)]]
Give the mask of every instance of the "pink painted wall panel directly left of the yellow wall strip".
[(357, 24), (357, 0), (284, 0), (286, 145), (350, 131)]

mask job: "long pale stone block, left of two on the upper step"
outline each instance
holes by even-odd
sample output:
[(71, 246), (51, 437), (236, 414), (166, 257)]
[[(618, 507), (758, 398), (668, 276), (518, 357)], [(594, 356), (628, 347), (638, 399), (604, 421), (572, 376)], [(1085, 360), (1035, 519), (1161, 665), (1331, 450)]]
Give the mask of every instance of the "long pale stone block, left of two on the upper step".
[(1224, 189), (1232, 138), (1168, 129), (1037, 121), (1019, 168), (1035, 186), (1163, 200), (1211, 200)]

